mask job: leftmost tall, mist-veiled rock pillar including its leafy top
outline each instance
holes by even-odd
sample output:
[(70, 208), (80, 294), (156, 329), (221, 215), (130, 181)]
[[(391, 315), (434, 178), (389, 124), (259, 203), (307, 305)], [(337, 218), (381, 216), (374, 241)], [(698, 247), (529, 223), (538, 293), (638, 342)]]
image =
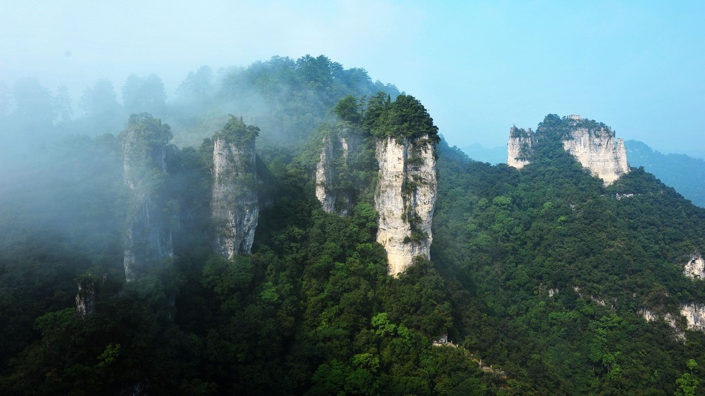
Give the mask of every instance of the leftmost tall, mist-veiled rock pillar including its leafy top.
[(130, 116), (121, 133), (123, 175), (129, 190), (123, 264), (131, 282), (149, 266), (173, 259), (172, 211), (164, 194), (168, 125), (149, 114)]

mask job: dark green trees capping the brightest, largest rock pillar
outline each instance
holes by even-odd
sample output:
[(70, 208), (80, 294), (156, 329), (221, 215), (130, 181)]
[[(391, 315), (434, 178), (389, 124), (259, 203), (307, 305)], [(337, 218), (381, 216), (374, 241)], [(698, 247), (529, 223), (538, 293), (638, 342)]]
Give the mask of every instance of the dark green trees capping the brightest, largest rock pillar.
[(379, 114), (372, 135), (394, 137), (396, 140), (417, 139), (428, 135), (431, 142), (437, 144), (441, 140), (438, 131), (434, 119), (418, 99), (411, 95), (399, 95)]

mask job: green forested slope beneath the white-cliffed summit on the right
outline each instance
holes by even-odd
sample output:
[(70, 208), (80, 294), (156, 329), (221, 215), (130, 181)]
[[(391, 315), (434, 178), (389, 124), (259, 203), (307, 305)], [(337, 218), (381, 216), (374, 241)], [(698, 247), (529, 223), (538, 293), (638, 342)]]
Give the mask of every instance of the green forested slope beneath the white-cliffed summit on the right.
[(687, 345), (705, 342), (702, 280), (683, 274), (705, 211), (642, 169), (606, 187), (564, 149), (570, 125), (550, 121), (556, 139), (520, 171), (441, 144), (431, 254), (467, 292), (450, 338), (539, 394), (668, 395), (699, 359)]

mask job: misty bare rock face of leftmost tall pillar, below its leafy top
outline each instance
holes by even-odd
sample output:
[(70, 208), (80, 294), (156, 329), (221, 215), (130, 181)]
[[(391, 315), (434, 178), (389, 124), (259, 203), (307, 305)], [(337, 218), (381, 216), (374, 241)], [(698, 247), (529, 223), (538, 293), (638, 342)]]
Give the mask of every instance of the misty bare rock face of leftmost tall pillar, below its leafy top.
[(123, 265), (125, 280), (132, 282), (142, 268), (173, 259), (171, 219), (154, 199), (161, 187), (159, 176), (166, 177), (166, 145), (145, 150), (145, 138), (139, 132), (125, 131), (123, 175), (132, 195)]

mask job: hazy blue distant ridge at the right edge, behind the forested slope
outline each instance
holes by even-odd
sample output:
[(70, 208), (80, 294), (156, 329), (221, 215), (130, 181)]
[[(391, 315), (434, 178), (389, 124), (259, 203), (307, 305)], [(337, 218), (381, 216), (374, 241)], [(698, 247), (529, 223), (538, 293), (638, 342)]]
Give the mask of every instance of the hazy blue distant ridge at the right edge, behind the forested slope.
[(705, 161), (686, 154), (661, 154), (638, 140), (627, 140), (630, 166), (653, 173), (693, 204), (705, 207)]

